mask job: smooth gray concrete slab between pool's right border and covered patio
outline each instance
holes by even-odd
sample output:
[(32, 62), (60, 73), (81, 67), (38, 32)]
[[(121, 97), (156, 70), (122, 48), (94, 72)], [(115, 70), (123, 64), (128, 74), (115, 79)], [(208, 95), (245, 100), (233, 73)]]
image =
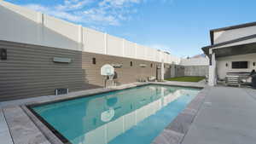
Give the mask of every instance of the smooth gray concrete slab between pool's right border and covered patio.
[(246, 90), (212, 88), (182, 143), (254, 144), (256, 100)]

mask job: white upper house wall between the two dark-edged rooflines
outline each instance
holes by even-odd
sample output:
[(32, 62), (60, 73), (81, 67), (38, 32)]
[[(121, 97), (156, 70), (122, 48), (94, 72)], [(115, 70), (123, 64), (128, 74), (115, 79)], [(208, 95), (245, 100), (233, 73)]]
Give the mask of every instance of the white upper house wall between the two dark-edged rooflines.
[(256, 34), (256, 26), (214, 32), (214, 44), (223, 43), (240, 37), (247, 37), (253, 34)]

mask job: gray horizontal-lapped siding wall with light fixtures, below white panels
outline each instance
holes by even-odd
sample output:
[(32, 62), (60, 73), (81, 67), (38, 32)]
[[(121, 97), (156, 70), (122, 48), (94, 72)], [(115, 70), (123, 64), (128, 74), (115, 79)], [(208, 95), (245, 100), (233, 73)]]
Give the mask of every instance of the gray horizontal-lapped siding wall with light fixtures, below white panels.
[[(110, 55), (97, 55), (69, 49), (0, 41), (7, 49), (7, 60), (0, 60), (0, 101), (40, 95), (54, 95), (57, 88), (70, 91), (102, 87), (100, 69), (104, 64), (122, 64), (115, 68), (119, 84), (130, 84), (137, 78), (156, 76), (157, 62)], [(71, 58), (69, 64), (55, 63), (54, 57)], [(96, 58), (96, 65), (92, 64)], [(133, 66), (130, 66), (132, 61)], [(151, 67), (153, 63), (153, 67)], [(146, 64), (147, 67), (140, 67)]]

